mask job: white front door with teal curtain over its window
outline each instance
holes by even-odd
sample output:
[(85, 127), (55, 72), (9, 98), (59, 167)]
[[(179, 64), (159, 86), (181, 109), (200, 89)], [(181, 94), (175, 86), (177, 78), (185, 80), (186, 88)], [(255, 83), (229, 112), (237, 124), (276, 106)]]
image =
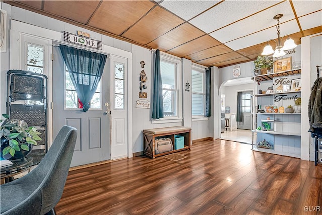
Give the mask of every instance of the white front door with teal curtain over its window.
[[(71, 46), (71, 45), (69, 45)], [(95, 52), (95, 51), (94, 51)], [(110, 159), (110, 58), (106, 59), (100, 84), (91, 100), (91, 108), (79, 108), (59, 47), (53, 47), (53, 136), (63, 125), (77, 128), (78, 137), (71, 166)], [(106, 105), (107, 106), (106, 106)]]

